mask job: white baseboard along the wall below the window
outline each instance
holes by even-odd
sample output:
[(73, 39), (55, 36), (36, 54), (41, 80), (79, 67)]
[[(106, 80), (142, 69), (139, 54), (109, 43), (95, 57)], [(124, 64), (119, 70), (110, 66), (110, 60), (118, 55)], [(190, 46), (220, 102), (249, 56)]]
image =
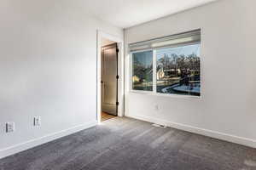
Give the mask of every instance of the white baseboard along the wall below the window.
[(184, 125), (177, 122), (168, 122), (168, 121), (164, 121), (164, 120), (157, 119), (150, 116), (128, 115), (128, 117), (146, 121), (146, 122), (153, 122), (161, 125), (166, 125), (167, 127), (177, 128), (190, 133), (197, 133), (207, 137), (222, 139), (231, 143), (242, 144), (252, 148), (256, 148), (256, 140), (253, 140), (253, 139), (242, 138), (242, 137), (234, 136), (227, 133), (219, 133), (216, 131), (207, 130), (200, 127), (192, 127), (192, 126)]

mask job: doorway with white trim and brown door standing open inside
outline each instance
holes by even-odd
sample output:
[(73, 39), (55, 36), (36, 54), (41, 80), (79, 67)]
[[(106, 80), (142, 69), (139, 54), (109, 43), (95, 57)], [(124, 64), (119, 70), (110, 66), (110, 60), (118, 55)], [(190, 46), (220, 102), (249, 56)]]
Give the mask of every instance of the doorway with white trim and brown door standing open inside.
[(123, 116), (123, 42), (97, 32), (97, 119), (104, 122)]

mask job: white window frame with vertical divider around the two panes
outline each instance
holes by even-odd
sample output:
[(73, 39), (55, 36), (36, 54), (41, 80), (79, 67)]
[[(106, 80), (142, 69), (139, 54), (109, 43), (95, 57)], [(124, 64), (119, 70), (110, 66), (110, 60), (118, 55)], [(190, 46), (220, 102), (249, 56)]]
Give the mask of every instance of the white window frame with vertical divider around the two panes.
[[(193, 45), (193, 44), (200, 44), (201, 42), (194, 42), (194, 43), (188, 43), (186, 45)], [(182, 47), (183, 44), (179, 44), (177, 46), (166, 46), (164, 48), (175, 48), (175, 47)], [(134, 94), (151, 94), (151, 95), (155, 95), (155, 96), (163, 96), (163, 97), (173, 97), (173, 98), (181, 98), (181, 99), (201, 99), (202, 96), (202, 86), (200, 88), (201, 90), (201, 95), (200, 96), (194, 96), (194, 95), (183, 95), (183, 94), (161, 94), (158, 93), (156, 91), (157, 88), (157, 80), (156, 80), (156, 69), (157, 69), (157, 63), (156, 63), (156, 50), (158, 49), (164, 49), (164, 48), (148, 48), (148, 49), (143, 49), (143, 50), (137, 50), (137, 51), (132, 51), (129, 53), (129, 58), (130, 58), (130, 93), (134, 93)], [(135, 90), (133, 89), (133, 83), (132, 83), (132, 71), (133, 71), (133, 54), (135, 53), (140, 53), (140, 52), (145, 52), (145, 51), (152, 51), (153, 52), (153, 90), (152, 91), (146, 91), (146, 90)], [(200, 54), (201, 55), (201, 54)], [(201, 56), (200, 56), (200, 69), (201, 69), (201, 74), (200, 74), (200, 78), (202, 75), (202, 66), (201, 66)], [(201, 79), (201, 84), (202, 84), (202, 79)]]

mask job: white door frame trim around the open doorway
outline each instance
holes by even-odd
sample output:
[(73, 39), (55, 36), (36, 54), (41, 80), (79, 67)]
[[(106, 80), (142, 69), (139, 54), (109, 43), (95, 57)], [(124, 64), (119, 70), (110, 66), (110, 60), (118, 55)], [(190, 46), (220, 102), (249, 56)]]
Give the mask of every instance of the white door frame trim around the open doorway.
[(97, 78), (96, 78), (96, 119), (98, 123), (101, 123), (102, 115), (102, 38), (107, 38), (113, 42), (117, 42), (118, 53), (118, 116), (125, 116), (125, 82), (124, 82), (124, 40), (120, 37), (113, 36), (104, 31), (97, 30)]

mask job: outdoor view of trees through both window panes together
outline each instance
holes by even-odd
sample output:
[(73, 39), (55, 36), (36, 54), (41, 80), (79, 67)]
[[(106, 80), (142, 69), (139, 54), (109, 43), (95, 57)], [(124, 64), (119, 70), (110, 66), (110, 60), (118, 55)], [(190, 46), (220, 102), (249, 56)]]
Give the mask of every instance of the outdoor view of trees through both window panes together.
[[(200, 43), (132, 54), (132, 89), (160, 94), (201, 95)], [(155, 54), (155, 55), (154, 55)], [(153, 58), (156, 71), (153, 71)], [(153, 84), (155, 72), (156, 84)]]

